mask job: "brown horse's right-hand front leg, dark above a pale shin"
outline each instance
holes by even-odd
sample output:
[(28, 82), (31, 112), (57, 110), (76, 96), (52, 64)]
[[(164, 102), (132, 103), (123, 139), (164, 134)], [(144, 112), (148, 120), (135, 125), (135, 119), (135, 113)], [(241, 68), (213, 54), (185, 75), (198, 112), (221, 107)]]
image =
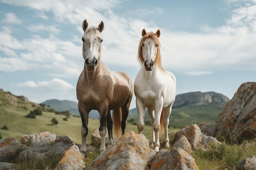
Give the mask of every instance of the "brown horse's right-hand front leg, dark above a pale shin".
[(108, 116), (108, 108), (104, 108), (101, 111), (99, 111), (99, 120), (100, 120), (99, 135), (101, 136), (101, 147), (99, 149), (100, 152), (106, 150), (105, 138), (107, 134), (107, 130), (106, 130), (107, 116)]

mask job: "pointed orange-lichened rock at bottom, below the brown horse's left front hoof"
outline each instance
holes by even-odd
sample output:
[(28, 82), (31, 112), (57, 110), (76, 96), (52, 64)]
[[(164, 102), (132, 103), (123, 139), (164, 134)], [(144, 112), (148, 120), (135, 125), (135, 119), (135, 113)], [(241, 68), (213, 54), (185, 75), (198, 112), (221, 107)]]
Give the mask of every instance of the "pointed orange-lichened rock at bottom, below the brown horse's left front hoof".
[(64, 156), (59, 161), (55, 170), (82, 170), (83, 157), (78, 146), (73, 145), (64, 152)]

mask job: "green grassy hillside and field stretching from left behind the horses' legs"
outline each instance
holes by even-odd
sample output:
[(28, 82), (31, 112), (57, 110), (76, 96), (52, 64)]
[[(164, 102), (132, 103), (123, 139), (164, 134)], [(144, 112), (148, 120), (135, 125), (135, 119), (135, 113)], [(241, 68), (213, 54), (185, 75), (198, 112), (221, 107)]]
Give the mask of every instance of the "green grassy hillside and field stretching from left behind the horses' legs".
[[(36, 108), (43, 110), (42, 115), (37, 115), (36, 119), (27, 118), (26, 115)], [(47, 111), (48, 110), (48, 111)], [(20, 140), (22, 135), (49, 131), (56, 136), (68, 135), (78, 144), (81, 144), (81, 119), (77, 116), (71, 116), (67, 121), (65, 115), (59, 115), (54, 110), (43, 105), (29, 102), (24, 96), (16, 96), (10, 92), (0, 89), (0, 138), (13, 137)], [(51, 120), (56, 118), (58, 124), (52, 125)], [(2, 129), (6, 126), (8, 129)], [(99, 128), (99, 119), (89, 119), (87, 143), (90, 144), (91, 134)], [(137, 132), (137, 126), (128, 123), (126, 132), (133, 130)], [(150, 138), (151, 127), (145, 127), (145, 136)]]

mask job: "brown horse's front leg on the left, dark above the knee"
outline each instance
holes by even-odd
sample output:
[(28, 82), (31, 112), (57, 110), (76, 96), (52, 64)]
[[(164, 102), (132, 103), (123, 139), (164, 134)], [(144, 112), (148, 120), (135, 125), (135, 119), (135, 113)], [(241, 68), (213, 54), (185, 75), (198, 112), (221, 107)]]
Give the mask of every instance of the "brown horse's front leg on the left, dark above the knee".
[(79, 109), (79, 113), (81, 116), (81, 121), (82, 121), (82, 127), (81, 127), (81, 137), (82, 137), (82, 143), (81, 143), (81, 148), (80, 148), (80, 153), (82, 157), (84, 158), (86, 155), (86, 137), (88, 135), (88, 115), (89, 112), (85, 112), (83, 109)]

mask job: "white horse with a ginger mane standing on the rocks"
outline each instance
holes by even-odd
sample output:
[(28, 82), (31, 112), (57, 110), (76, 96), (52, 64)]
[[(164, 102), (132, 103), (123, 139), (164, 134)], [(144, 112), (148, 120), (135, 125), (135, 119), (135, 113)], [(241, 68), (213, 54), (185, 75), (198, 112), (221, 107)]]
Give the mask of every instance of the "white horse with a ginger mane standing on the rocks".
[(136, 107), (139, 115), (138, 131), (139, 133), (143, 132), (145, 109), (147, 108), (153, 127), (150, 144), (154, 144), (154, 150), (157, 152), (160, 147), (161, 126), (164, 128), (164, 146), (169, 147), (168, 124), (176, 94), (175, 76), (171, 72), (164, 71), (162, 67), (159, 36), (159, 30), (156, 33), (147, 33), (145, 29), (142, 30), (138, 49), (141, 69), (134, 82)]

